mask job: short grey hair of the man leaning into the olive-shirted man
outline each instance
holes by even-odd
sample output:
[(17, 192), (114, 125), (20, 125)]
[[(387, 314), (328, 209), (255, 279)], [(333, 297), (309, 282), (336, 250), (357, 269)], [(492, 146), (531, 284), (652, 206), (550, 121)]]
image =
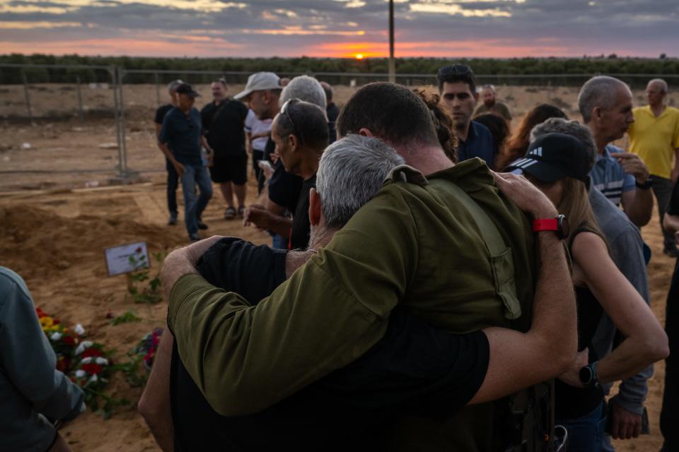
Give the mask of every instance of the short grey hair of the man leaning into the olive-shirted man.
[(347, 135), (325, 149), (316, 191), (327, 227), (342, 227), (380, 191), (389, 172), (405, 161), (378, 138)]

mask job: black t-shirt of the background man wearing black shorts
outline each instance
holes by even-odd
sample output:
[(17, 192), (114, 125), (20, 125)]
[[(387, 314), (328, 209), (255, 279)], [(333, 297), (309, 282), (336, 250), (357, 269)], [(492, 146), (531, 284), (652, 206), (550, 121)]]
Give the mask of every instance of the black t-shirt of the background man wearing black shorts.
[(226, 99), (219, 105), (214, 101), (200, 111), (207, 143), (217, 156), (236, 156), (245, 153), (245, 117), (248, 107), (239, 100)]

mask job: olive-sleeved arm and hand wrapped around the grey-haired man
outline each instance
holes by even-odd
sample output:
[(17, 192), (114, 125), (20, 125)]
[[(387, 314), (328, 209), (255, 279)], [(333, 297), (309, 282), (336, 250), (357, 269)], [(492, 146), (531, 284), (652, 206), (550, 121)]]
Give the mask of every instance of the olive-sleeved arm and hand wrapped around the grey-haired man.
[[(186, 274), (195, 272), (190, 261), (168, 256), (161, 278), (171, 287), (170, 328), (214, 410), (243, 415), (267, 408), (353, 362), (382, 337), (417, 261), (417, 232), (404, 204), (378, 194), (256, 306)], [(385, 223), (393, 225), (390, 234), (376, 227)]]

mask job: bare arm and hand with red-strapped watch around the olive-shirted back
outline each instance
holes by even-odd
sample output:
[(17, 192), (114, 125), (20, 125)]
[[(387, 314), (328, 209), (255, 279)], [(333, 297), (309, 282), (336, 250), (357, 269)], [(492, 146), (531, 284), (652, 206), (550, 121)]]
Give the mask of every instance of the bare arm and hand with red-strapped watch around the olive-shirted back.
[[(525, 211), (554, 218), (554, 205), (524, 177), (495, 174), (499, 189)], [(526, 333), (486, 328), (490, 361), (470, 403), (494, 400), (557, 376), (576, 356), (575, 295), (564, 246), (553, 232), (538, 234), (540, 273), (533, 302), (533, 324)]]

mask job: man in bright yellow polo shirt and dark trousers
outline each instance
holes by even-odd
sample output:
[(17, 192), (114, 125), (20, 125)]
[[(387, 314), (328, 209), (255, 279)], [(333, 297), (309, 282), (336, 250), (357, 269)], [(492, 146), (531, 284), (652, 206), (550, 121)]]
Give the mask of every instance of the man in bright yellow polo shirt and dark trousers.
[[(660, 225), (663, 231), (663, 251), (677, 257), (677, 246), (673, 234), (663, 229), (665, 208), (670, 202), (672, 186), (679, 176), (679, 109), (668, 107), (667, 83), (654, 78), (646, 86), (649, 105), (637, 107), (634, 124), (629, 126), (629, 151), (639, 155), (649, 167), (653, 179), (653, 192), (658, 201)], [(674, 159), (674, 167), (672, 166)]]

